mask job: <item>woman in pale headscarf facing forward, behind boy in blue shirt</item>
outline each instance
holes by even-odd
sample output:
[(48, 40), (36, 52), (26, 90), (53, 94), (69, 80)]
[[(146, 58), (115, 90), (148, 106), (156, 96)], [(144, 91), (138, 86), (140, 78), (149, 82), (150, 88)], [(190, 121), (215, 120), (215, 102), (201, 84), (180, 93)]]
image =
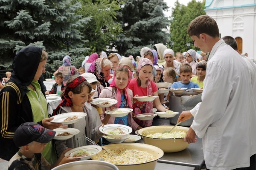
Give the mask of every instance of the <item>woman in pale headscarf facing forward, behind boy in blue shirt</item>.
[(163, 57), (165, 59), (165, 64), (162, 65), (162, 68), (173, 68), (177, 75), (180, 74), (180, 65), (179, 62), (177, 62), (174, 59), (174, 51), (170, 48), (167, 48), (165, 51), (163, 51)]

